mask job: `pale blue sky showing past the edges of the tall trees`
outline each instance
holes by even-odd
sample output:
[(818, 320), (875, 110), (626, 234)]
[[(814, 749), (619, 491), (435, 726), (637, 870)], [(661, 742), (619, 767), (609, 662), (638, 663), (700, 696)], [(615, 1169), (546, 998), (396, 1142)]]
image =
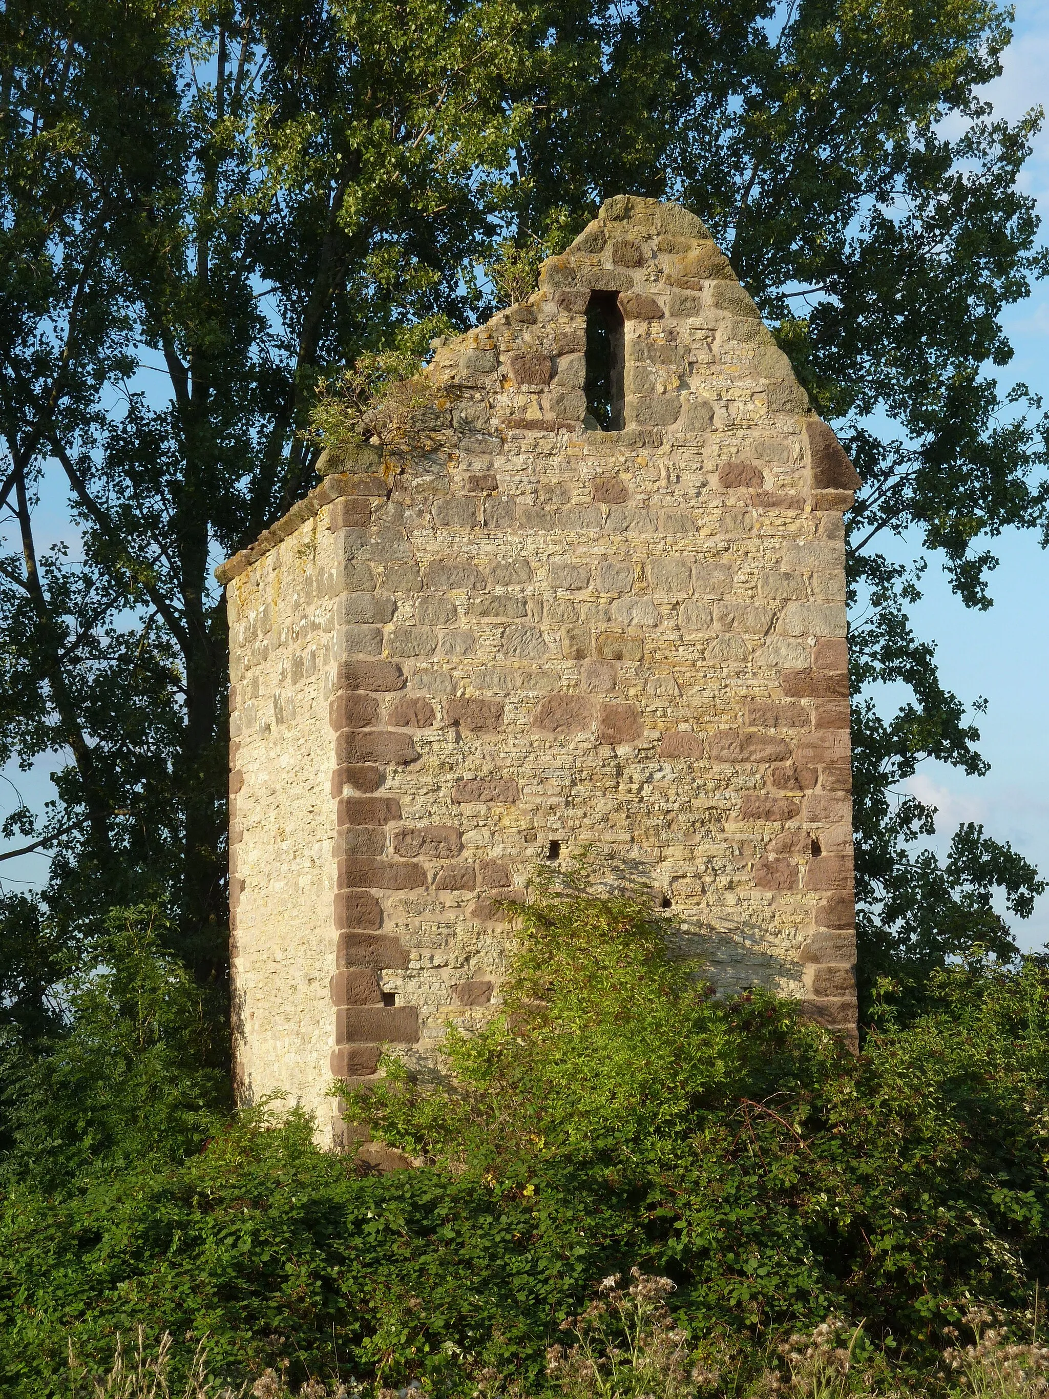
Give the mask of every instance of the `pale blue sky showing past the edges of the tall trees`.
[[(1004, 55), (1001, 78), (987, 88), (997, 115), (1015, 119), (1049, 95), (1049, 0), (1020, 0), (1014, 41)], [(1038, 199), (1049, 236), (1049, 136), (1035, 143), (1024, 187)], [(1049, 404), (1049, 285), (1008, 311), (1006, 326), (1015, 358), (1001, 372), (1003, 383), (1024, 381)], [(59, 483), (45, 488), (39, 516), (39, 547), (69, 537)], [(912, 557), (913, 551), (908, 555)], [(982, 753), (990, 761), (985, 778), (939, 764), (925, 764), (909, 783), (923, 800), (939, 807), (937, 834), (944, 842), (958, 821), (982, 821), (999, 839), (1010, 841), (1049, 876), (1049, 553), (1032, 536), (1008, 534), (999, 541), (1001, 564), (992, 575), (994, 606), (969, 611), (954, 597), (932, 560), (923, 581), (925, 597), (913, 611), (918, 634), (937, 644), (944, 681), (966, 702), (987, 700), (979, 718)], [(43, 761), (31, 774), (8, 769), (27, 800), (39, 807), (48, 796)], [(0, 796), (0, 811), (14, 804)], [(7, 844), (18, 844), (17, 841)], [(46, 856), (34, 855), (0, 866), (3, 886), (25, 887), (46, 877)], [(1017, 926), (1022, 946), (1049, 942), (1049, 894), (1028, 923)]]

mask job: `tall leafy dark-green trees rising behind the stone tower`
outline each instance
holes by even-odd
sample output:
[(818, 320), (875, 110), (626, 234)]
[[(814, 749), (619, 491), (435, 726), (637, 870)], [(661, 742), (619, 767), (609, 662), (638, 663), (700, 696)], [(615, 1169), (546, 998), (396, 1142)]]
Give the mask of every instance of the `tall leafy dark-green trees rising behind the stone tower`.
[[(464, 326), (490, 309), (478, 267), (520, 271), (624, 189), (709, 221), (864, 480), (855, 679), (912, 694), (856, 713), (864, 965), (1007, 946), (990, 893), (1022, 915), (1028, 865), (976, 831), (943, 869), (912, 853), (932, 816), (901, 783), (982, 760), (884, 546), (920, 540), (982, 607), (994, 536), (1045, 516), (1036, 404), (994, 379), (1001, 312), (1046, 269), (1018, 189), (1039, 115), (979, 98), (1007, 39), (987, 0), (8, 4), (0, 755), (69, 755), (43, 827), (20, 809), (8, 835), (59, 846), (45, 900), (70, 946), (162, 898), (194, 975), (222, 979), (211, 567), (313, 483), (319, 378)], [(83, 558), (36, 547), (45, 467)]]

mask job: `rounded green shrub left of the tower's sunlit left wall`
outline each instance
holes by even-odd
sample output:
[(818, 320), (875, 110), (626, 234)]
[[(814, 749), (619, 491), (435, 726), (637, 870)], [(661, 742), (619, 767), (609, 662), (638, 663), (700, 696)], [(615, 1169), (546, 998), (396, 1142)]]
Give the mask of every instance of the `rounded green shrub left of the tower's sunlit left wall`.
[(62, 982), (48, 1032), (0, 1028), (0, 1184), (119, 1178), (143, 1160), (180, 1160), (221, 1121), (229, 1080), (208, 1004), (218, 992), (193, 982), (162, 932), (152, 909), (116, 909)]

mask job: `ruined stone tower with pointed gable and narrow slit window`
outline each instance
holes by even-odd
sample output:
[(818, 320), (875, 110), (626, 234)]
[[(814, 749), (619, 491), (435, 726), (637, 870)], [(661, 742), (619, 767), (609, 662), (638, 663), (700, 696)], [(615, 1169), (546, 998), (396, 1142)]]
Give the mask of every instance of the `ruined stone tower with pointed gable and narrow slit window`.
[(859, 481), (705, 227), (617, 197), (441, 344), (441, 450), (218, 571), (241, 1093), (499, 1004), (513, 897), (594, 846), (722, 990), (855, 1035), (842, 512)]

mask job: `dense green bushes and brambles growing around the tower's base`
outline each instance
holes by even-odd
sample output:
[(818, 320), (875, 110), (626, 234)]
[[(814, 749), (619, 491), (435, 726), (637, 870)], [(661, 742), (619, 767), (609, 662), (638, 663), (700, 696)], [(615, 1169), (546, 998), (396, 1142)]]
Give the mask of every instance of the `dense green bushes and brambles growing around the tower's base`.
[(827, 1318), (880, 1357), (863, 1382), (881, 1389), (957, 1385), (944, 1357), (978, 1307), (996, 1335), (1036, 1339), (1041, 958), (941, 970), (906, 1013), (885, 990), (853, 1058), (790, 1003), (712, 997), (643, 901), (540, 887), (508, 1013), (449, 1038), (455, 1090), (393, 1066), (393, 1090), (357, 1105), (420, 1163), (373, 1175), (278, 1104), (228, 1114), (193, 1066), (201, 1006), (130, 926), (70, 1032), (11, 1060), (4, 1396), (70, 1393), (70, 1343), (102, 1374), (138, 1325), (147, 1349), (172, 1337), (172, 1385), (204, 1342), (235, 1386), (271, 1370), (333, 1389), (564, 1388), (550, 1347), (631, 1267), (670, 1280), (688, 1354), (720, 1357), (695, 1371), (718, 1392), (768, 1388), (789, 1371), (769, 1370), (776, 1344)]

